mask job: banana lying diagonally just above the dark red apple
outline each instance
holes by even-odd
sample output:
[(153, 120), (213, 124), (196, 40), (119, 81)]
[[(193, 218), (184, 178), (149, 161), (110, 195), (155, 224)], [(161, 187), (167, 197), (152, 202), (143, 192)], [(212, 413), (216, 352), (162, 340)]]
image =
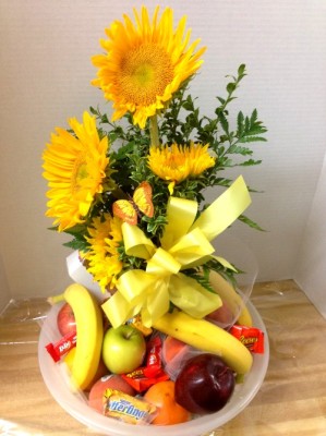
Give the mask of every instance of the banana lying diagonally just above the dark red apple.
[(246, 374), (252, 366), (253, 358), (247, 348), (208, 320), (174, 311), (161, 316), (153, 327), (202, 351), (218, 354), (239, 375)]

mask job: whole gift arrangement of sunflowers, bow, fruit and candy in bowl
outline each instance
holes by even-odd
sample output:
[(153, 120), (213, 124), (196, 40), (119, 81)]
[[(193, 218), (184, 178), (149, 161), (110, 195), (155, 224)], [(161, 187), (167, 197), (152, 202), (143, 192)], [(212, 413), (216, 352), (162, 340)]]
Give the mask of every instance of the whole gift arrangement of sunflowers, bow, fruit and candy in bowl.
[[(250, 116), (240, 111), (237, 118), (229, 111), (246, 75), (244, 64), (236, 75), (227, 76), (226, 95), (215, 97), (213, 118), (202, 114), (189, 85), (206, 47), (197, 47), (200, 39), (190, 43), (186, 16), (176, 27), (170, 8), (160, 14), (156, 7), (153, 16), (145, 7), (133, 13), (134, 24), (124, 14), (123, 21), (106, 28), (107, 39), (100, 40), (105, 53), (92, 58), (97, 68), (92, 84), (113, 102), (111, 119), (99, 107), (90, 107), (82, 122), (72, 118), (69, 130), (57, 128), (43, 155), (49, 187), (46, 216), (55, 219), (51, 229), (72, 238), (64, 245), (75, 250), (76, 261), (106, 298), (100, 299), (99, 307), (90, 288), (69, 269), (74, 283), (52, 298), (57, 304), (41, 327), (39, 364), (53, 398), (97, 432), (202, 435), (232, 419), (252, 400), (268, 364), (265, 326), (249, 301), (256, 272), (249, 282), (240, 283), (238, 277), (243, 279), (250, 269), (243, 261), (250, 258), (239, 243), (230, 255), (221, 244), (221, 233), (236, 220), (262, 230), (243, 215), (255, 190), (242, 174), (232, 180), (225, 170), (258, 165), (261, 160), (252, 158), (249, 144), (265, 142), (267, 129), (256, 109)], [(210, 202), (206, 190), (212, 187), (218, 191)], [(229, 237), (226, 249), (230, 249)], [(234, 253), (240, 254), (239, 262)], [(67, 351), (71, 346), (65, 336), (63, 342), (52, 343), (60, 339), (57, 316), (61, 299), (75, 316), (71, 339), (76, 347), (70, 373), (65, 364), (53, 363), (47, 355), (51, 347)], [(217, 323), (222, 325), (214, 325)], [(149, 330), (150, 339), (142, 338), (133, 353), (119, 346), (118, 359), (117, 337), (111, 332), (125, 331), (125, 327), (141, 330), (145, 337), (144, 330)], [(232, 331), (227, 331), (229, 327)], [(243, 339), (242, 332), (249, 330), (256, 334)], [(256, 348), (262, 330), (265, 352)], [(191, 359), (192, 371), (189, 360), (184, 366), (174, 362), (174, 379), (167, 361), (164, 363), (169, 337), (190, 347), (186, 352), (205, 350), (208, 355)], [(154, 339), (161, 342), (156, 354), (152, 351)], [(137, 362), (131, 365), (128, 355)], [(176, 352), (170, 355), (174, 361)], [(150, 360), (155, 362), (152, 367)], [(205, 360), (205, 377), (201, 377), (204, 372), (198, 375), (196, 365)], [(144, 401), (110, 387), (100, 393), (102, 414), (92, 410), (83, 392), (101, 362), (109, 373), (126, 377), (124, 382), (137, 378), (141, 389), (135, 386), (135, 390), (145, 393)], [(212, 362), (224, 382), (208, 371)], [(161, 405), (166, 391), (160, 391), (161, 402), (147, 401), (152, 387), (157, 389), (157, 380), (166, 376), (171, 378), (165, 378), (169, 386), (174, 384), (169, 397), (176, 400), (172, 408), (186, 412), (182, 419), (171, 421), (171, 413), (166, 413)], [(204, 380), (200, 387), (198, 378)], [(191, 386), (197, 393), (186, 396)], [(205, 404), (197, 401), (200, 397), (205, 397)], [(160, 421), (164, 409), (165, 420)], [(195, 417), (201, 413), (209, 415)]]

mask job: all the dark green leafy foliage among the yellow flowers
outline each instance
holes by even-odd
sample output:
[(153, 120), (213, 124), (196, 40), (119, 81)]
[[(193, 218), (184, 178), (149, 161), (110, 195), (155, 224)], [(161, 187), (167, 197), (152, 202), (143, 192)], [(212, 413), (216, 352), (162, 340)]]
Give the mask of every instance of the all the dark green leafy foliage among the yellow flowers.
[[(244, 114), (242, 111), (238, 113), (230, 111), (230, 104), (236, 100), (236, 92), (245, 75), (245, 65), (242, 64), (239, 66), (237, 75), (227, 76), (225, 96), (215, 97), (217, 105), (210, 117), (201, 113), (197, 99), (189, 94), (189, 82), (173, 95), (168, 107), (161, 112), (158, 119), (158, 133), (162, 144), (190, 145), (191, 142), (208, 144), (212, 155), (216, 157), (213, 168), (207, 169), (195, 179), (186, 179), (176, 184), (174, 196), (196, 199), (202, 205), (205, 201), (203, 192), (206, 187), (231, 185), (233, 180), (226, 175), (225, 170), (261, 164), (259, 159), (253, 157), (253, 146), (266, 142), (267, 129), (258, 119), (257, 110), (253, 109), (250, 114)], [(154, 243), (159, 243), (159, 237), (166, 225), (166, 205), (169, 192), (167, 182), (152, 173), (147, 166), (147, 156), (152, 144), (149, 122), (144, 130), (141, 130), (133, 124), (130, 113), (124, 116), (121, 122), (116, 123), (111, 122), (108, 116), (101, 113), (98, 108), (90, 107), (90, 112), (97, 118), (99, 135), (101, 137), (106, 135), (109, 138), (110, 164), (106, 181), (106, 187), (109, 189), (105, 194), (96, 196), (85, 225), (67, 231), (73, 237), (73, 240), (64, 245), (86, 251), (88, 249), (85, 239), (86, 228), (92, 218), (110, 213), (112, 203), (117, 198), (132, 198), (134, 190), (144, 180), (147, 180), (153, 187), (155, 214), (153, 218), (140, 214), (138, 226)], [(252, 187), (250, 190), (254, 192)], [(239, 217), (239, 220), (253, 229), (262, 230), (257, 223), (243, 215)], [(143, 261), (126, 256), (123, 247), (119, 250), (121, 259), (129, 268), (140, 267), (140, 262), (144, 267)], [(217, 261), (209, 262), (206, 267), (207, 270), (216, 270), (229, 281), (234, 281), (234, 271), (224, 268)], [(209, 289), (205, 268), (201, 269), (201, 274), (193, 269), (186, 270), (186, 272)]]

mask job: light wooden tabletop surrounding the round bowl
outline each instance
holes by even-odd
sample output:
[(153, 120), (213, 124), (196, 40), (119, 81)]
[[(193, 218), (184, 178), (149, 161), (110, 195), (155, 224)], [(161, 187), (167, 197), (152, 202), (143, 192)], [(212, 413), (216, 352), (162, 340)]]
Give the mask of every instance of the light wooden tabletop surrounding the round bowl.
[[(251, 302), (268, 331), (266, 377), (237, 416), (202, 434), (325, 436), (325, 319), (292, 280), (256, 283)], [(39, 322), (49, 308), (45, 299), (11, 301), (0, 316), (0, 434), (99, 435), (57, 403), (39, 372)]]

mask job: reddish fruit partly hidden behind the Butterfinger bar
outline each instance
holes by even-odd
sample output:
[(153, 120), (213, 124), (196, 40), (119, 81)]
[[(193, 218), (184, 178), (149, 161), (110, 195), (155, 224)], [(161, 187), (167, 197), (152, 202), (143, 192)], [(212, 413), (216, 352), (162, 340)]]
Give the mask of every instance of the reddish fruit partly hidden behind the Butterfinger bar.
[(90, 408), (102, 413), (102, 397), (106, 389), (117, 389), (130, 396), (135, 396), (136, 391), (125, 382), (121, 375), (109, 374), (99, 378), (92, 387), (88, 397)]

